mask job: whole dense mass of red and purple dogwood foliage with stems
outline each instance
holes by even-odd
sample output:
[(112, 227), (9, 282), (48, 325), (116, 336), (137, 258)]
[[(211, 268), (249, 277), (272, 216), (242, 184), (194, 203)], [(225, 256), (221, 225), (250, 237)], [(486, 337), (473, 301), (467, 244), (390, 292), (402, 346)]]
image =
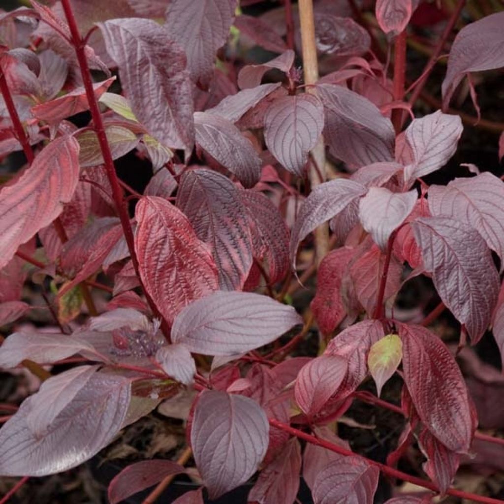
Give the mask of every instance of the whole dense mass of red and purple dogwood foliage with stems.
[[(250, 502), (292, 503), (300, 475), (319, 504), (371, 503), (381, 473), (452, 492), (475, 409), (442, 340), (390, 308), (423, 275), (471, 343), (492, 326), (502, 351), (504, 182), (474, 167), (447, 185), (421, 179), (449, 162), (463, 128), (437, 110), (402, 131), (411, 106), (401, 101), (400, 43), (419, 2), (376, 2), (396, 45), (394, 82), (337, 2), (314, 11), (285, 2), (286, 37), (267, 17), (240, 14), (236, 0), (31, 3), (0, 15), (0, 153), (27, 158), (0, 190), (0, 324), (20, 327), (0, 366), (28, 366), (44, 381), (0, 429), (0, 475), (76, 467), (162, 399), (195, 389), (187, 443), (212, 499), (256, 473)], [(306, 12), (312, 39), (298, 36)], [(504, 66), (502, 26), (498, 13), (458, 32), (445, 107), (467, 74)], [(237, 37), (275, 54), (233, 66)], [(300, 66), (313, 61), (300, 56), (313, 40), (329, 72), (303, 86)], [(69, 118), (83, 111), (91, 120), (78, 128)], [(321, 138), (341, 167), (328, 181), (312, 154)], [(152, 164), (143, 194), (115, 172), (129, 152)], [(311, 320), (285, 294), (327, 222), (333, 246), (311, 301), (327, 346), (289, 358), (278, 339), (294, 330), (287, 341), (299, 340)], [(110, 291), (100, 313), (98, 273)], [(59, 328), (19, 324), (35, 277), (57, 289)], [(83, 302), (90, 317), (78, 317)], [(41, 367), (71, 356), (82, 364), (54, 375)], [(330, 428), (369, 376), (380, 394), (396, 371), (408, 423), (391, 457), (416, 438), (430, 481), (353, 454)], [(109, 499), (184, 471), (133, 464)], [(202, 489), (177, 502), (203, 502)]]

